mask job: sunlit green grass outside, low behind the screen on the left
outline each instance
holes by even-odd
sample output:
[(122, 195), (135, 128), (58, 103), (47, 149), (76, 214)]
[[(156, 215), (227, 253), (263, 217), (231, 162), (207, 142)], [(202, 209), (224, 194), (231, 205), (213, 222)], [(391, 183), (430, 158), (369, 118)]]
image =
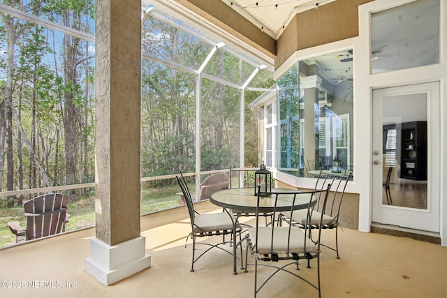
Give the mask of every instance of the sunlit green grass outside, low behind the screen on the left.
[[(180, 197), (176, 193), (180, 190), (173, 187), (142, 186), (140, 214), (150, 214), (179, 206)], [(66, 232), (91, 228), (95, 226), (95, 202), (94, 196), (80, 198), (68, 202), (68, 214), (70, 219), (66, 223)], [(0, 209), (0, 248), (15, 244), (15, 234), (8, 227), (10, 221), (18, 221), (25, 226), (23, 206)]]

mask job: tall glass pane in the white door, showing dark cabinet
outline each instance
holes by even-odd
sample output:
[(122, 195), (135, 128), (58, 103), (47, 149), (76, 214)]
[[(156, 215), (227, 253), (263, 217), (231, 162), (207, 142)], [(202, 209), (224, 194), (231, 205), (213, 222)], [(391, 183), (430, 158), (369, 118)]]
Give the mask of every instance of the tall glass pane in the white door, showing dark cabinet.
[(427, 94), (384, 97), (382, 115), (382, 204), (427, 209)]

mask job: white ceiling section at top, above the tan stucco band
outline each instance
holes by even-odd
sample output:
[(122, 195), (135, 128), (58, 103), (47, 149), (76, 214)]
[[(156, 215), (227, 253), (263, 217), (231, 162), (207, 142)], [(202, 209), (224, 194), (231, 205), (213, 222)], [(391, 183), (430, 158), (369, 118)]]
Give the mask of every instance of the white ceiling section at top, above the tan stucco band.
[(269, 36), (277, 39), (297, 13), (335, 0), (221, 0)]

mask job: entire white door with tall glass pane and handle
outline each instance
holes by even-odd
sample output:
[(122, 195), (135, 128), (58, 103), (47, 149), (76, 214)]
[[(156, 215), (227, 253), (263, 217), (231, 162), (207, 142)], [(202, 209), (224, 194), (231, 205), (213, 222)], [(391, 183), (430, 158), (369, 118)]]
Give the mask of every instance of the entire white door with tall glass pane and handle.
[(372, 221), (439, 232), (439, 82), (375, 89)]

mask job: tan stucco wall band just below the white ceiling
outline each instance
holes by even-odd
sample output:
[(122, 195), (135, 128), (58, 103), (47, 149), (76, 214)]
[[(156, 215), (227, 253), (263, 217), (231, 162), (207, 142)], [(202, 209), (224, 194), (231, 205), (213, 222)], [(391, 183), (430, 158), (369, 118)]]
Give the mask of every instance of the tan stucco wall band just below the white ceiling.
[(358, 6), (374, 0), (337, 0), (298, 13), (277, 40), (221, 1), (175, 1), (274, 58), (279, 68), (298, 50), (358, 36)]

